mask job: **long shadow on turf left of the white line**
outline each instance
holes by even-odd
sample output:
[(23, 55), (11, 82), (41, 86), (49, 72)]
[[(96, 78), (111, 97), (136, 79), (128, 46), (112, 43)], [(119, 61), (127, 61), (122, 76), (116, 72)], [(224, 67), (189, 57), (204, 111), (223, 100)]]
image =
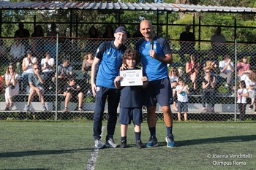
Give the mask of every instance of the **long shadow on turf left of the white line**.
[(77, 149), (77, 150), (29, 150), (21, 152), (1, 152), (0, 158), (12, 158), (12, 157), (23, 157), (23, 156), (33, 156), (33, 155), (56, 155), (56, 154), (65, 154), (72, 152), (91, 152), (91, 148), (86, 149)]

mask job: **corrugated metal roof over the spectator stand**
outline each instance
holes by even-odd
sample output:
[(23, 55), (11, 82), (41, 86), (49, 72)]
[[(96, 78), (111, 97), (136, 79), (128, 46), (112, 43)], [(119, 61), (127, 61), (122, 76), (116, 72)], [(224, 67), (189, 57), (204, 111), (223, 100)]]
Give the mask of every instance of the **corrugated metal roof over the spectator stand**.
[(230, 12), (230, 13), (256, 13), (256, 8), (224, 7), (198, 4), (170, 4), (170, 3), (125, 3), (125, 2), (85, 2), (85, 1), (31, 1), (11, 2), (0, 1), (0, 9), (109, 9), (109, 10), (145, 10), (169, 12)]

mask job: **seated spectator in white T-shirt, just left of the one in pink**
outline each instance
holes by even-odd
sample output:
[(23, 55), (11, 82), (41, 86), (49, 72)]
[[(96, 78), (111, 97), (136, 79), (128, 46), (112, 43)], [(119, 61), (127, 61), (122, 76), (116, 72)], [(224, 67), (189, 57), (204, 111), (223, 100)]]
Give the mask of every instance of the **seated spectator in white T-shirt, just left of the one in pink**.
[(219, 61), (219, 72), (220, 77), (226, 80), (225, 88), (229, 90), (228, 93), (232, 93), (231, 81), (233, 80), (235, 69), (230, 55), (226, 54), (224, 60)]

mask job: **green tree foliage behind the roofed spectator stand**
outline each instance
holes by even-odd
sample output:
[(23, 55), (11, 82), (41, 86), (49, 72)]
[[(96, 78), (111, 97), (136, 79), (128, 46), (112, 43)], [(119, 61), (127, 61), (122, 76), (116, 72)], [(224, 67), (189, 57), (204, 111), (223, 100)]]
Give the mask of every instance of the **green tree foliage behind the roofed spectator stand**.
[[(12, 0), (13, 1), (13, 0)], [(117, 1), (117, 0), (116, 0)], [(116, 2), (114, 1), (114, 2)], [(138, 2), (135, 0), (122, 0), (123, 2)], [(151, 3), (154, 0), (146, 0), (147, 3)], [(203, 4), (203, 5), (227, 5), (227, 6), (241, 6), (241, 7), (256, 7), (255, 1), (249, 0), (165, 0), (165, 3), (183, 3), (183, 4)], [(200, 37), (202, 40), (209, 40), (211, 34), (214, 34), (214, 26), (223, 26), (222, 33), (225, 34), (227, 41), (233, 41), (234, 30), (228, 28), (228, 26), (234, 26), (235, 19), (237, 26), (255, 26), (255, 15), (243, 15), (243, 14), (219, 14), (219, 13), (192, 13), (192, 12), (172, 12), (169, 13), (169, 20), (166, 23), (166, 13), (159, 12), (159, 27), (154, 27), (159, 31), (159, 35), (169, 37), (171, 39), (178, 39), (179, 34), (184, 31), (184, 25), (187, 23), (193, 23), (193, 15), (195, 15), (195, 24), (199, 23), (199, 17), (201, 18), (202, 26)], [(143, 19), (151, 20), (152, 23), (157, 23), (157, 12), (148, 11), (121, 11), (121, 18), (118, 18), (118, 11), (108, 10), (75, 10), (72, 13), (69, 10), (3, 10), (2, 18), (3, 22), (9, 21), (23, 21), (27, 22), (25, 25), (29, 29), (30, 33), (34, 31), (34, 15), (36, 15), (37, 22), (41, 22), (45, 33), (50, 27), (50, 23), (56, 22), (59, 28), (59, 33), (64, 36), (69, 36), (69, 22), (72, 17), (72, 22), (75, 23), (78, 20), (78, 37), (86, 37), (87, 32), (91, 26), (98, 28), (100, 35), (105, 31), (105, 26), (112, 25), (113, 28), (118, 26), (118, 20), (127, 26), (130, 34), (136, 31), (137, 24)], [(183, 15), (179, 15), (183, 14)], [(72, 15), (72, 16), (71, 16)], [(31, 23), (29, 23), (31, 22)], [(45, 24), (45, 22), (48, 22)], [(67, 23), (61, 23), (67, 22)], [(181, 26), (167, 26), (167, 24), (180, 24)], [(2, 24), (1, 36), (13, 36), (15, 30), (18, 29), (17, 24)], [(198, 26), (195, 27), (195, 36), (198, 39), (199, 32)], [(167, 33), (167, 34), (166, 34)], [(76, 26), (72, 25), (72, 36), (76, 34)], [(238, 41), (251, 42), (255, 40), (256, 31), (253, 28), (237, 28)]]

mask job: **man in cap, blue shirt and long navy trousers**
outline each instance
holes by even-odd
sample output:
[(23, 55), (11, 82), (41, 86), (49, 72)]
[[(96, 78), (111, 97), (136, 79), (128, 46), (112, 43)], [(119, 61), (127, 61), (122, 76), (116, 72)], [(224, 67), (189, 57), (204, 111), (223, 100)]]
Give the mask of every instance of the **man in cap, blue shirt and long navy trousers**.
[[(121, 56), (127, 47), (124, 42), (127, 39), (127, 28), (119, 26), (116, 28), (115, 40), (103, 42), (97, 49), (94, 62), (91, 66), (91, 90), (96, 99), (94, 108), (94, 144), (96, 148), (105, 147), (101, 140), (102, 116), (105, 109), (105, 101), (108, 98), (108, 125), (106, 145), (117, 147), (113, 140), (116, 128), (117, 107), (119, 103), (119, 90), (114, 85), (121, 67)], [(98, 68), (96, 83), (95, 72)]]

